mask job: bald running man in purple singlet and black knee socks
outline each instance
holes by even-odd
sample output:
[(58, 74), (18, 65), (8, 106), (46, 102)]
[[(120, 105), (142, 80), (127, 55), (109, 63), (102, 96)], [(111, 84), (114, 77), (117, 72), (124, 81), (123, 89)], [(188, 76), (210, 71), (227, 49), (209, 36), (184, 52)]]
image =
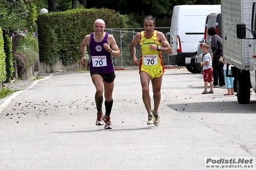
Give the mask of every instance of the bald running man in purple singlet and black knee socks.
[[(106, 33), (104, 30), (104, 20), (95, 20), (94, 33), (86, 35), (83, 42), (81, 42), (80, 63), (83, 65), (87, 63), (85, 53), (87, 45), (89, 45), (90, 58), (88, 64), (92, 82), (96, 87), (95, 103), (98, 111), (96, 125), (104, 125), (104, 121), (105, 129), (112, 129), (110, 113), (113, 105), (112, 93), (115, 79), (113, 57), (119, 58), (121, 56), (121, 52), (115, 42), (114, 36)], [(103, 91), (105, 92), (105, 116), (103, 116), (102, 112)]]

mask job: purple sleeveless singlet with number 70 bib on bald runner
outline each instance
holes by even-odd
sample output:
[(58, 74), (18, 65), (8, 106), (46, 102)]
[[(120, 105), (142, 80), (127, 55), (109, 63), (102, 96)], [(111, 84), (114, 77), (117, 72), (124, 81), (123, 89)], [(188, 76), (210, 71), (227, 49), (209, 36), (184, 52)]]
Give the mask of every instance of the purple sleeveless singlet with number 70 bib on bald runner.
[(113, 73), (113, 56), (103, 47), (104, 43), (108, 43), (109, 33), (106, 33), (101, 42), (95, 42), (93, 35), (94, 33), (90, 33), (90, 72)]

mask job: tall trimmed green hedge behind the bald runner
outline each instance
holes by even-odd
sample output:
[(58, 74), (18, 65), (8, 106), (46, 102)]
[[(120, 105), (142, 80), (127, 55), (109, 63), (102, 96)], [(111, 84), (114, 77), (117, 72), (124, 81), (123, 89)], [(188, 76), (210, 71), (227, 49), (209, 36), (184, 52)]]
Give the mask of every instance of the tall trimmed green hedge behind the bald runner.
[(64, 65), (81, 59), (80, 44), (85, 35), (94, 31), (96, 19), (105, 20), (106, 27), (126, 27), (128, 17), (113, 10), (76, 9), (38, 15), (40, 62), (54, 65), (61, 59)]

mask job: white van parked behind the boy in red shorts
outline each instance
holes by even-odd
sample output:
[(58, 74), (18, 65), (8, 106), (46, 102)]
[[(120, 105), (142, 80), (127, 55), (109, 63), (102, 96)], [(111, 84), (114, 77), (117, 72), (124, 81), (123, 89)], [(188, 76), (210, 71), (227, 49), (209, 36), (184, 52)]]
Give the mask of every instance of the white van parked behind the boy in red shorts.
[(178, 5), (173, 8), (171, 19), (170, 65), (186, 66), (193, 72), (191, 56), (198, 49), (198, 42), (204, 35), (205, 18), (209, 13), (220, 13), (221, 5)]

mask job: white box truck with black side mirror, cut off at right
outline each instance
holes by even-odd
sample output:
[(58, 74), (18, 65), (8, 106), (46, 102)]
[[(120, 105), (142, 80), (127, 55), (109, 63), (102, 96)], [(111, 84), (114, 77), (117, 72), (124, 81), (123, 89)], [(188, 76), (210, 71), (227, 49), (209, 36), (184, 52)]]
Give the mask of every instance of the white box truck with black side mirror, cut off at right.
[(237, 101), (248, 104), (256, 89), (256, 0), (221, 0), (221, 15), (223, 57), (234, 65)]

